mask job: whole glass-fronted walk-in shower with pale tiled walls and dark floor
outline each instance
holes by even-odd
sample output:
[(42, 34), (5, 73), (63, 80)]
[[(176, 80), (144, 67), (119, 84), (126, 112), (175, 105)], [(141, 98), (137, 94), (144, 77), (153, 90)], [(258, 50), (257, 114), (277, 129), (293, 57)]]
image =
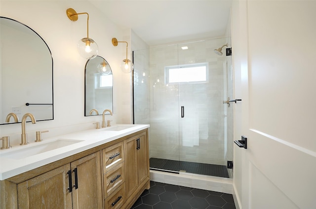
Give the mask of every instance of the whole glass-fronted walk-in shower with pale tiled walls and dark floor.
[[(230, 38), (133, 52), (134, 123), (150, 124), (153, 170), (232, 177), (232, 57), (214, 48)], [(220, 49), (222, 49), (221, 47)]]

